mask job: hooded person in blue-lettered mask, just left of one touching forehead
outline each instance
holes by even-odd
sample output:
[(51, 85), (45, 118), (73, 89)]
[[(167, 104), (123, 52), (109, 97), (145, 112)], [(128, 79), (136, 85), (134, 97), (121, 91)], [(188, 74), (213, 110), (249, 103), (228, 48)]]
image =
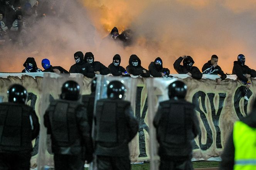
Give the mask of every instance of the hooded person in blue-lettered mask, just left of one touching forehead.
[(153, 77), (163, 77), (170, 74), (169, 69), (163, 68), (163, 61), (160, 57), (157, 57), (155, 61), (149, 64), (148, 70)]

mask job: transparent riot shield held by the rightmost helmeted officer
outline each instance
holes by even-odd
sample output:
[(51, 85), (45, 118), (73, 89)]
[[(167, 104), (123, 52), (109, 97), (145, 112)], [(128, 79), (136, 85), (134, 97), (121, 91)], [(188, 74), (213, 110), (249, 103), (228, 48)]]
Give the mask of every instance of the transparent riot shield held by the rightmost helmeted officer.
[(147, 79), (148, 89), (148, 120), (150, 135), (150, 170), (158, 170), (160, 165), (160, 157), (158, 156), (158, 141), (156, 129), (153, 126), (153, 120), (157, 113), (160, 102), (168, 100), (168, 86), (170, 83), (177, 81), (177, 78), (163, 79), (150, 78)]

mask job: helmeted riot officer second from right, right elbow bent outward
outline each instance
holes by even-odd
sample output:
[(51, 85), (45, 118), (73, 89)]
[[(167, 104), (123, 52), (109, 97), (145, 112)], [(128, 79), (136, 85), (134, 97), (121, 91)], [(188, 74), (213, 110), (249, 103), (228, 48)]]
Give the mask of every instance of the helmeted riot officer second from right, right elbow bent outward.
[(128, 143), (138, 132), (131, 103), (122, 100), (126, 88), (120, 81), (111, 81), (107, 99), (96, 105), (95, 155), (98, 170), (130, 170)]

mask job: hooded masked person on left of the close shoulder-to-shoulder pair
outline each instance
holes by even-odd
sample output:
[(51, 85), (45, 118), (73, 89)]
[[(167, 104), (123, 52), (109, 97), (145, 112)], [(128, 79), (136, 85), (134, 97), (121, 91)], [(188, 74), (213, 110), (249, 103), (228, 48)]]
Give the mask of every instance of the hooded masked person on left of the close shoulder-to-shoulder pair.
[(81, 73), (86, 77), (93, 78), (95, 77), (95, 73), (93, 71), (93, 67), (88, 64), (87, 62), (84, 62), (83, 60), (84, 54), (81, 51), (77, 51), (74, 54), (74, 59), (76, 61), (76, 64), (72, 65), (69, 69), (70, 73)]

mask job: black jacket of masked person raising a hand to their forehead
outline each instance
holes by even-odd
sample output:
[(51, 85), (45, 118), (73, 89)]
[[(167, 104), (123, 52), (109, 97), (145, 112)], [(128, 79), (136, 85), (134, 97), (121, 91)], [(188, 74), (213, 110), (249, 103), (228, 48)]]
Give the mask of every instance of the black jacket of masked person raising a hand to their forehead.
[[(192, 57), (188, 57), (187, 59), (190, 59), (194, 62), (194, 60), (192, 59)], [(178, 72), (178, 74), (187, 74), (188, 72), (190, 72), (192, 74), (192, 77), (194, 79), (198, 79), (200, 80), (202, 78), (202, 73), (200, 72), (200, 70), (195, 67), (192, 66), (192, 68), (189, 70), (186, 67), (180, 65), (180, 63), (182, 62), (183, 58), (179, 57), (174, 63), (173, 63), (173, 67), (174, 69)], [(184, 64), (184, 61), (183, 61)]]

